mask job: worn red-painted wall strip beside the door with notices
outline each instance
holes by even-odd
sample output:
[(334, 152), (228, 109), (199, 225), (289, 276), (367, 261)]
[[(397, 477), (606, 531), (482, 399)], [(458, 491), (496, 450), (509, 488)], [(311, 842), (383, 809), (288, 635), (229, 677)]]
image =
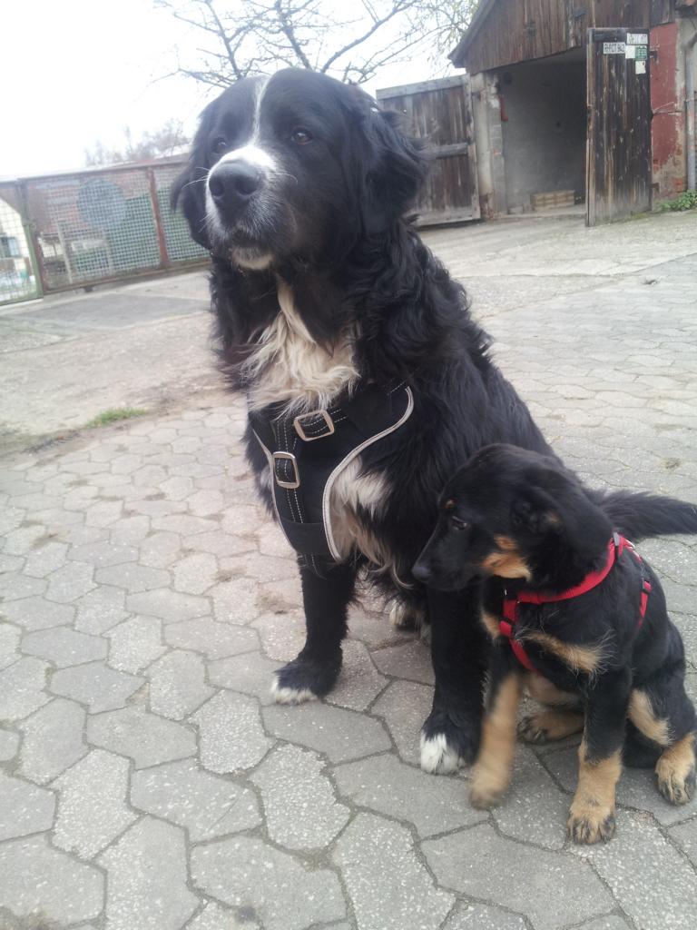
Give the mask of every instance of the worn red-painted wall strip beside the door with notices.
[(653, 183), (659, 198), (685, 190), (685, 77), (677, 23), (651, 29)]

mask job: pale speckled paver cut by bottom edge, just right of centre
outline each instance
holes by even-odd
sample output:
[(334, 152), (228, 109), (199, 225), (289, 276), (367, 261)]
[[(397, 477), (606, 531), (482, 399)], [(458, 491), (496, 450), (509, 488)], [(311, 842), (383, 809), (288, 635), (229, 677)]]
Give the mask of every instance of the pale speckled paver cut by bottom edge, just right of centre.
[(332, 855), (341, 869), (361, 927), (438, 930), (454, 897), (438, 890), (414, 853), (405, 827), (359, 814)]

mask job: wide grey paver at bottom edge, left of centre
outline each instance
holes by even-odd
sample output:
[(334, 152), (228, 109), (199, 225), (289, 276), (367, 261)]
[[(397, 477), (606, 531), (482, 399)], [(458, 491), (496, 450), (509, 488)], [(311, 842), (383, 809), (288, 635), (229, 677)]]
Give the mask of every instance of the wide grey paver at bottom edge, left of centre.
[(205, 893), (251, 910), (266, 930), (304, 930), (346, 914), (334, 872), (306, 868), (256, 837), (195, 847), (191, 875)]

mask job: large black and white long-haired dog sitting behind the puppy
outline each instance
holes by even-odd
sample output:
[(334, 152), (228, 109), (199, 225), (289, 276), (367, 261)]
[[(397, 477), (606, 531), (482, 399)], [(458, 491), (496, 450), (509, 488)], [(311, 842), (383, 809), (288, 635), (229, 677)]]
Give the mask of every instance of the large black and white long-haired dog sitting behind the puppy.
[[(318, 573), (301, 560), (307, 643), (278, 671), (275, 693), (299, 702), (334, 686), (365, 571), (397, 591), (403, 618), (427, 613), (436, 689), (422, 766), (447, 772), (480, 738), (483, 643), (467, 622), (478, 591), (424, 588), (411, 566), (442, 486), (473, 451), (493, 442), (549, 450), (488, 357), (463, 287), (404, 219), (426, 174), (396, 114), (357, 87), (291, 69), (240, 81), (206, 107), (174, 199), (211, 252), (221, 357), (242, 380), (252, 425), (277, 419), (287, 432), (291, 415), (317, 410), (338, 423), (336, 410), (366, 390), (383, 400), (407, 392), (403, 416), (333, 476), (324, 516), (334, 564)], [(252, 425), (261, 493), (270, 504), (284, 476), (293, 516), (297, 473), (276, 472), (275, 459), (270, 471)], [(302, 442), (293, 444), (284, 448)], [(284, 464), (294, 458), (283, 454)]]

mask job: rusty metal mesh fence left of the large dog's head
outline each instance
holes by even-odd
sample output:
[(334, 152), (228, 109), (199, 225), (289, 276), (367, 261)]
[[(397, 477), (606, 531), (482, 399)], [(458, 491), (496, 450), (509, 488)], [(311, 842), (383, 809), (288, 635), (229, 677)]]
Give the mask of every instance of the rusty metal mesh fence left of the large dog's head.
[(169, 206), (182, 164), (0, 183), (0, 303), (203, 261)]

